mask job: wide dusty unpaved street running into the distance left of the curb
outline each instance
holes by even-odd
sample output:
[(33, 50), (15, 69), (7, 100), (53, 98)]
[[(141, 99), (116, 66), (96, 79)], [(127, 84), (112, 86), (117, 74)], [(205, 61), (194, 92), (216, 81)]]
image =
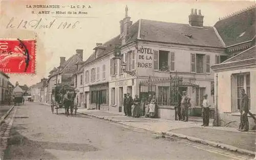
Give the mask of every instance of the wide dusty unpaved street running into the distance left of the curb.
[[(16, 106), (12, 114), (13, 118), (10, 115), (8, 120), (13, 119), (13, 123), (4, 159), (245, 158), (241, 154), (186, 140), (161, 138), (149, 131), (81, 114), (74, 117), (52, 114), (50, 106), (36, 102)], [(2, 126), (0, 131), (6, 128)]]

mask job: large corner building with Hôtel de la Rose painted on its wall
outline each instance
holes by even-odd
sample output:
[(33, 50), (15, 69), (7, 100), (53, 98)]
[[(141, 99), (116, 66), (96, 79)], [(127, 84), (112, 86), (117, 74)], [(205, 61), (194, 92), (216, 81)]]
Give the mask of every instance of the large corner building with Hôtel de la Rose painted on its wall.
[[(81, 95), (86, 95), (79, 99), (87, 103), (90, 99), (87, 108), (123, 112), (125, 93), (135, 98), (142, 92), (140, 82), (148, 77), (158, 79), (170, 75), (183, 77), (180, 90), (187, 91), (193, 107), (200, 107), (203, 94), (209, 95), (213, 106), (214, 72), (210, 65), (218, 63), (220, 57), (226, 60), (228, 54), (215, 28), (203, 26), (201, 11), (191, 10), (189, 24), (145, 19), (133, 24), (130, 19), (126, 8), (120, 21), (120, 35), (104, 44), (97, 43), (95, 52), (82, 65), (83, 73), (76, 74), (77, 83), (82, 81)], [(121, 46), (120, 59), (114, 58), (116, 45)], [(126, 71), (135, 75), (123, 72), (123, 62)], [(164, 103), (169, 98), (168, 88), (158, 86), (155, 95), (160, 104), (158, 116), (173, 119), (174, 106)]]

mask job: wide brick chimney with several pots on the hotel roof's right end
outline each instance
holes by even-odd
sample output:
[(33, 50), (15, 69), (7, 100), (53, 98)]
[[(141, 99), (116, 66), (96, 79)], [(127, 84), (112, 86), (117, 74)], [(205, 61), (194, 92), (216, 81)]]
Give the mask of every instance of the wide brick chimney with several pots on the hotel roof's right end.
[(191, 26), (203, 27), (204, 16), (201, 14), (201, 10), (198, 10), (198, 14), (197, 14), (197, 9), (195, 9), (195, 11), (194, 9), (191, 9), (191, 12), (188, 18), (189, 18), (189, 24)]

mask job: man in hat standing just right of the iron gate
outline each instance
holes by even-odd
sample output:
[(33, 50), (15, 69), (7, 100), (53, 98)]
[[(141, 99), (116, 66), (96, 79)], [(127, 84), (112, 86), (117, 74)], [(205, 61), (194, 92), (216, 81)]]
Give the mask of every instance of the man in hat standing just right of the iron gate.
[(181, 117), (182, 117), (182, 121), (188, 121), (188, 107), (190, 105), (190, 98), (187, 96), (187, 92), (183, 91), (182, 92), (182, 97), (181, 97), (181, 102), (180, 102), (180, 106), (181, 106)]

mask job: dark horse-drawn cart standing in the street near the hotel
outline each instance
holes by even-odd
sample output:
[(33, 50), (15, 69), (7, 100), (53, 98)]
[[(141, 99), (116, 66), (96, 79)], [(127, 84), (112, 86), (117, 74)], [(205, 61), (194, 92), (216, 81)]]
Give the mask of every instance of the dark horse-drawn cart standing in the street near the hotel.
[[(65, 101), (65, 94), (69, 92), (68, 96), (70, 98), (69, 101)], [(52, 99), (51, 99), (51, 109), (52, 113), (54, 112), (54, 108), (56, 109), (56, 114), (58, 114), (58, 109), (65, 108), (65, 114), (69, 114), (69, 108), (71, 109), (71, 114), (73, 114), (74, 108), (74, 96), (75, 96), (75, 89), (68, 85), (58, 84), (52, 90)], [(67, 108), (68, 106), (68, 108)], [(76, 113), (76, 112), (75, 112)]]

